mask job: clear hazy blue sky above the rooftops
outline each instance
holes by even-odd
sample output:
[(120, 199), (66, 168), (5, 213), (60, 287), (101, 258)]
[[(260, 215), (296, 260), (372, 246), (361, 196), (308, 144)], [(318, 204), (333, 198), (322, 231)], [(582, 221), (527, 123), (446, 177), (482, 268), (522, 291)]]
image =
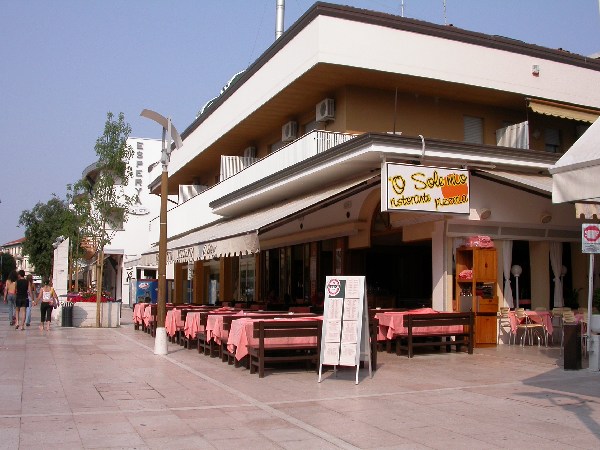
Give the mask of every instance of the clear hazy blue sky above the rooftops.
[[(314, 0), (286, 0), (285, 28)], [(332, 0), (592, 55), (600, 0)], [(445, 4), (445, 11), (444, 11)], [(402, 8), (402, 5), (404, 7)], [(19, 216), (96, 159), (106, 113), (161, 138), (144, 108), (183, 132), (275, 39), (276, 0), (0, 0), (0, 245)]]

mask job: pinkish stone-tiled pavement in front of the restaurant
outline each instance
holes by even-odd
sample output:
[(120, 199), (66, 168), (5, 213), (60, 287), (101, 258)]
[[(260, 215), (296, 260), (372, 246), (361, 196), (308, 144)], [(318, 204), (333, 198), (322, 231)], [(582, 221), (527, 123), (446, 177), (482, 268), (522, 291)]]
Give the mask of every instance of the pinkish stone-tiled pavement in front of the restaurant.
[(0, 448), (600, 447), (600, 374), (559, 350), (500, 346), (361, 370), (244, 368), (153, 339), (123, 308), (116, 329), (8, 326), (0, 307)]

